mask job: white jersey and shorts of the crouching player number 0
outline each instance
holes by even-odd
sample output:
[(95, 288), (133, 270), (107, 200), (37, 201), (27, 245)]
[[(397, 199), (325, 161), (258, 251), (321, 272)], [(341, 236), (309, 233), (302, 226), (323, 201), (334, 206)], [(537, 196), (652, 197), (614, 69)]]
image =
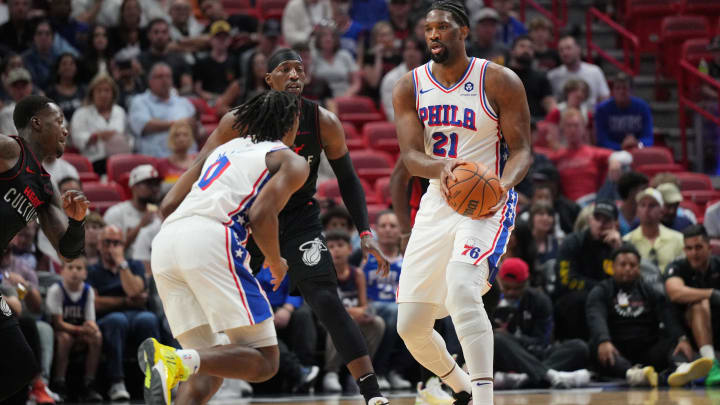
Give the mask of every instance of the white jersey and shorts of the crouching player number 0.
[(219, 146), (163, 223), (153, 240), (151, 263), (174, 336), (202, 325), (221, 332), (270, 319), (272, 336), (245, 344), (277, 344), (272, 309), (251, 273), (246, 244), (250, 208), (270, 179), (265, 157), (286, 148), (280, 141), (253, 143), (249, 138)]

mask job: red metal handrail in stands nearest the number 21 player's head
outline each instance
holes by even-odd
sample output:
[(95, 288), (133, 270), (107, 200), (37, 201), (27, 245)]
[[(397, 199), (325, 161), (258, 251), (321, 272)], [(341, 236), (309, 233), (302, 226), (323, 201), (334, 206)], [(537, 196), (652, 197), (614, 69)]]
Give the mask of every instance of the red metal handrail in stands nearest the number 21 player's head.
[[(610, 28), (612, 28), (617, 34), (622, 37), (624, 61), (621, 62), (617, 60), (615, 57), (607, 53), (604, 49), (602, 49), (600, 46), (596, 45), (593, 42), (592, 24), (593, 19), (595, 18), (607, 24)], [(588, 60), (592, 60), (593, 51), (595, 51), (603, 59), (612, 63), (613, 65), (615, 65), (615, 67), (627, 73), (628, 75), (635, 76), (638, 74), (638, 72), (640, 71), (640, 54), (638, 51), (640, 48), (640, 41), (635, 34), (625, 29), (625, 27), (623, 27), (622, 25), (613, 21), (609, 15), (603, 13), (595, 7), (591, 7), (585, 15), (585, 25)]]

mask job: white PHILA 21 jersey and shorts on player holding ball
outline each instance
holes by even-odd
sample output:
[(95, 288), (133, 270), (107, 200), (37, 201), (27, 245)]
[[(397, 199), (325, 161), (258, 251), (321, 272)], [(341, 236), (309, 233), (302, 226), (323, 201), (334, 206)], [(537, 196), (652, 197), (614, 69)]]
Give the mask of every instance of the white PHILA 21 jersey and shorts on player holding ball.
[[(509, 153), (498, 116), (485, 95), (487, 60), (471, 58), (459, 82), (445, 87), (433, 77), (428, 62), (412, 72), (418, 118), (424, 127), (425, 153), (435, 159), (480, 162), (502, 174)], [(470, 263), (495, 279), (515, 223), (517, 193), (495, 215), (473, 220), (455, 212), (442, 194), (440, 180), (430, 180), (420, 202), (403, 259), (398, 302), (444, 306), (446, 268), (450, 261)], [(447, 313), (445, 313), (447, 314)]]

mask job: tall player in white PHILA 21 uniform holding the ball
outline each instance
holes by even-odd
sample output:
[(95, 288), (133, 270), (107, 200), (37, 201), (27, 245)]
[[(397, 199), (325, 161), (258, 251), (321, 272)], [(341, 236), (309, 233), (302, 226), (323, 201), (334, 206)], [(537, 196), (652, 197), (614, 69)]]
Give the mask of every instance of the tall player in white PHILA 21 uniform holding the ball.
[[(425, 16), (431, 62), (393, 91), (402, 160), (430, 179), (405, 251), (398, 287), (398, 333), (423, 366), (455, 392), (455, 404), (493, 403), (493, 336), (482, 295), (495, 278), (515, 221), (519, 183), (532, 162), (525, 89), (511, 70), (468, 57), (468, 17), (460, 3), (436, 1)], [(500, 178), (503, 198), (484, 219), (448, 205), (447, 181), (463, 161)], [(433, 330), (450, 314), (465, 373)]]

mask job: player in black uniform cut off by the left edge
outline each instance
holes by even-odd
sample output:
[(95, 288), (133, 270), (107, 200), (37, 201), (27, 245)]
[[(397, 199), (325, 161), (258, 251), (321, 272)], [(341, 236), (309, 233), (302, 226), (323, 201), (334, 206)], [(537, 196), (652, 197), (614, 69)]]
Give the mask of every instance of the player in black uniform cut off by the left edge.
[[(62, 257), (78, 257), (83, 252), (83, 224), (90, 203), (80, 191), (68, 191), (60, 198), (41, 164), (65, 150), (68, 132), (62, 110), (47, 97), (29, 96), (15, 106), (13, 121), (20, 136), (0, 135), (0, 251), (28, 222), (38, 219)], [(39, 369), (1, 295), (0, 342), (2, 401), (27, 386)]]

